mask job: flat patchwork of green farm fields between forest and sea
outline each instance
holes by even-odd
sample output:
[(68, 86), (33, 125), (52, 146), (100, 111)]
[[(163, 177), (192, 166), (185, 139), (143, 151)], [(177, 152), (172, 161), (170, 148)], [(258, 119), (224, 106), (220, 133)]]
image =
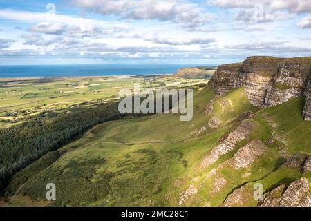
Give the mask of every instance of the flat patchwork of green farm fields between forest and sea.
[[(123, 88), (184, 87), (207, 83), (174, 75), (153, 77), (75, 77), (0, 79), (0, 128), (19, 124), (42, 111), (62, 111), (71, 106), (111, 102)], [(15, 117), (15, 118), (14, 118)]]

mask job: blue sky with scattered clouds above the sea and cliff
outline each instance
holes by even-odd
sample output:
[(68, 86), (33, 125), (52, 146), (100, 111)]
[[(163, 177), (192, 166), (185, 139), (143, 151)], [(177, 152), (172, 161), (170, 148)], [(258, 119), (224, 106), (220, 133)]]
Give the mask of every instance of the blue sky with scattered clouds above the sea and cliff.
[(0, 0), (0, 65), (311, 55), (311, 0)]

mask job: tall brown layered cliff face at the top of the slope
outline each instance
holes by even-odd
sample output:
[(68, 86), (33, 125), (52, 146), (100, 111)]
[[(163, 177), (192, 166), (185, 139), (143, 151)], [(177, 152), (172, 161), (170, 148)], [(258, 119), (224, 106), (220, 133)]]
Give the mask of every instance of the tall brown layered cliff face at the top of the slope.
[(303, 117), (311, 120), (311, 57), (249, 57), (242, 64), (220, 66), (210, 85), (217, 95), (243, 86), (254, 106), (276, 106), (305, 95)]

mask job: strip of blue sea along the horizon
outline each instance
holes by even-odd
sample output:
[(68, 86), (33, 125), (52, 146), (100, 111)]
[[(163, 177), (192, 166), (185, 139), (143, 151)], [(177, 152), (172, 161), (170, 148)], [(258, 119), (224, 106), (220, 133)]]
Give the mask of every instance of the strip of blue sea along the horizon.
[(0, 78), (79, 77), (115, 75), (169, 75), (187, 64), (86, 64), (86, 65), (0, 65)]

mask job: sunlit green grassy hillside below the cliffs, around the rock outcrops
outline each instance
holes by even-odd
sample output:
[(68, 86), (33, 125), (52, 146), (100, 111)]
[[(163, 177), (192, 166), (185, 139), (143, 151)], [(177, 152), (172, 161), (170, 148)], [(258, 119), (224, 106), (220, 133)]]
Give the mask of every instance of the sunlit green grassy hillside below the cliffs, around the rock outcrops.
[[(209, 88), (194, 94), (191, 122), (180, 122), (178, 115), (153, 115), (98, 125), (82, 139), (60, 150), (66, 153), (50, 166), (30, 165), (17, 174), (8, 189), (15, 192), (28, 178), (30, 181), (18, 195), (44, 200), (45, 186), (53, 182), (57, 186), (57, 200), (53, 206), (176, 206), (180, 195), (192, 184), (198, 193), (187, 199), (185, 205), (219, 206), (233, 189), (250, 185), (254, 180), (263, 180), (268, 189), (281, 180), (299, 176), (296, 171), (276, 169), (282, 162), (279, 149), (284, 146), (288, 153), (310, 153), (307, 145), (311, 142), (311, 123), (302, 120), (302, 98), (259, 111), (254, 119), (256, 129), (247, 139), (213, 166), (198, 169), (202, 157), (238, 125), (236, 119), (218, 129), (207, 128), (198, 133), (211, 115), (227, 122), (245, 110), (254, 111), (243, 88), (218, 97), (210, 115), (205, 113), (205, 108), (212, 97), (213, 91)], [(286, 141), (281, 142), (280, 137), (285, 137)], [(267, 145), (265, 155), (249, 168), (235, 171), (225, 161), (238, 147), (254, 139)], [(274, 142), (268, 142), (271, 139)], [(206, 179), (213, 168), (227, 180), (218, 193), (212, 193), (215, 177)], [(39, 175), (34, 176), (36, 172)], [(246, 173), (250, 175), (245, 176)], [(18, 204), (17, 199), (12, 199), (12, 206)], [(252, 199), (249, 202), (251, 206), (256, 205)]]

